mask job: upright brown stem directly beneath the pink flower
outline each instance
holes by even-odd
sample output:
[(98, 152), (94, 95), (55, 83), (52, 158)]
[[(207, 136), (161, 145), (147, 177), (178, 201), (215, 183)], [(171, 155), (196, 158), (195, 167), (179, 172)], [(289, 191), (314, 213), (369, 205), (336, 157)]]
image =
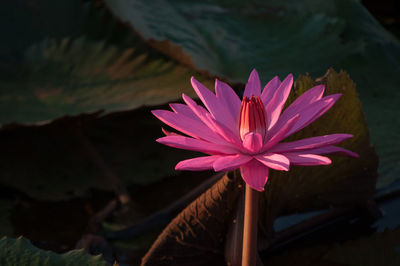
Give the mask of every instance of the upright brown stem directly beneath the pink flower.
[(246, 184), (243, 225), (242, 266), (257, 262), (258, 192)]

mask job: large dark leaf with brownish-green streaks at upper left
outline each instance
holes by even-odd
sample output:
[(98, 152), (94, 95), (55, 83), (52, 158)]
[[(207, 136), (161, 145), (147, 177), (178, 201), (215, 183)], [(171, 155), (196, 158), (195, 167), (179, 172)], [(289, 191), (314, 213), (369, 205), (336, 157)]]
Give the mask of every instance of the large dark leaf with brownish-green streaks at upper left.
[(10, 12), (0, 18), (6, 27), (0, 42), (0, 126), (193, 94), (188, 81), (195, 72), (149, 49), (98, 3), (1, 5)]

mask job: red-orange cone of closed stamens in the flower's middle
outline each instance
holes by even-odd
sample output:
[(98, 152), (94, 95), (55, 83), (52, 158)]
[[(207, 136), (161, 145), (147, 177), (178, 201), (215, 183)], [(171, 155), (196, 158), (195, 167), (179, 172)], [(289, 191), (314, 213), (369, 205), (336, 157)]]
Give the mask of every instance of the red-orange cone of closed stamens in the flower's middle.
[(249, 132), (259, 133), (264, 140), (266, 133), (265, 108), (260, 97), (244, 97), (239, 113), (239, 134), (243, 140)]

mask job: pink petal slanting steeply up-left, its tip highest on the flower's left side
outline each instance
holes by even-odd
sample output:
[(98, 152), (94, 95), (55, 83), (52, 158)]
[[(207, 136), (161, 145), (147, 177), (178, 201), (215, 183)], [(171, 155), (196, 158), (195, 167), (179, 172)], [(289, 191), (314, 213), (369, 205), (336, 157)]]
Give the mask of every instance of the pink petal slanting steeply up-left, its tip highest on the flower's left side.
[(191, 78), (191, 82), (193, 89), (213, 117), (218, 122), (225, 124), (228, 128), (235, 127), (236, 120), (233, 120), (228, 107), (194, 77)]

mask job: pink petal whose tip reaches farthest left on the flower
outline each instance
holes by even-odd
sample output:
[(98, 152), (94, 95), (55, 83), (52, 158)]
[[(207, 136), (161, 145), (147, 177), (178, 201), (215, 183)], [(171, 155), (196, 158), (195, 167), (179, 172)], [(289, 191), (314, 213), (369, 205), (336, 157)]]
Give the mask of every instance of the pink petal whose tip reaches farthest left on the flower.
[(204, 123), (199, 122), (197, 119), (191, 119), (187, 116), (176, 114), (166, 110), (153, 110), (151, 111), (162, 122), (168, 126), (181, 131), (182, 133), (215, 143), (225, 143), (220, 136), (213, 133)]

